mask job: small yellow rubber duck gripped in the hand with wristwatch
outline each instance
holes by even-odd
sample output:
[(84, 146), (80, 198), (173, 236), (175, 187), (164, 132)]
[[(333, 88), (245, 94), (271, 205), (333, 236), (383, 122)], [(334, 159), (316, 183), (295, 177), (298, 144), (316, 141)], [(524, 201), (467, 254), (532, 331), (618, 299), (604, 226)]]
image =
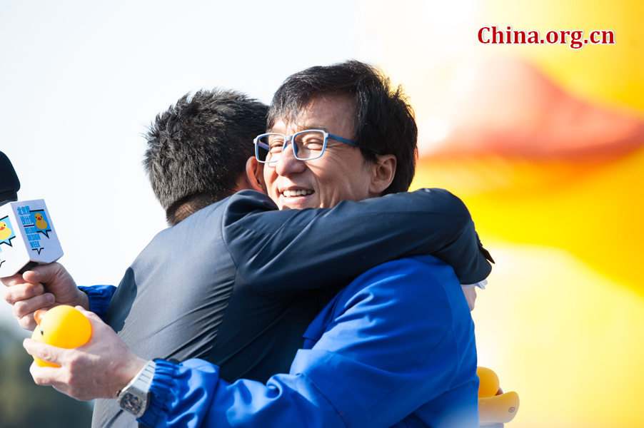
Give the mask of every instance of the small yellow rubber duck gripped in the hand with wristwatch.
[[(62, 348), (74, 348), (86, 344), (91, 337), (91, 324), (87, 317), (69, 305), (37, 310), (34, 318), (38, 326), (31, 339)], [(41, 367), (60, 367), (34, 357)]]

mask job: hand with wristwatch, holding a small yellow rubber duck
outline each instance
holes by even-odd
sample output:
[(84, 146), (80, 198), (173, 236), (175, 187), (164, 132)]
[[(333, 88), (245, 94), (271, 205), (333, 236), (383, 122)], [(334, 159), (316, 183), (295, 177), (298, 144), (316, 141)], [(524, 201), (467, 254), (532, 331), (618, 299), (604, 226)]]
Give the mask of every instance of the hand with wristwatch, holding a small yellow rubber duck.
[(30, 355), (61, 366), (40, 367), (34, 362), (29, 368), (31, 377), (36, 384), (49, 385), (82, 401), (116, 398), (146, 365), (146, 360), (134, 355), (96, 314), (79, 306), (76, 309), (91, 322), (91, 339), (69, 350), (25, 339), (23, 346)]

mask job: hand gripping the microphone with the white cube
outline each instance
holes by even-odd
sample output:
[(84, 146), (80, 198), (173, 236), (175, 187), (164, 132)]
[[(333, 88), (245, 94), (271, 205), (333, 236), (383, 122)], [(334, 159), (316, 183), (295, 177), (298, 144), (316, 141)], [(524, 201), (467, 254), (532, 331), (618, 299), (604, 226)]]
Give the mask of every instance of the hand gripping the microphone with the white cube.
[(33, 267), (23, 275), (1, 278), (6, 285), (4, 300), (13, 306), (14, 317), (26, 330), (34, 330), (34, 312), (57, 305), (81, 305), (89, 309), (89, 298), (76, 287), (74, 278), (60, 263)]

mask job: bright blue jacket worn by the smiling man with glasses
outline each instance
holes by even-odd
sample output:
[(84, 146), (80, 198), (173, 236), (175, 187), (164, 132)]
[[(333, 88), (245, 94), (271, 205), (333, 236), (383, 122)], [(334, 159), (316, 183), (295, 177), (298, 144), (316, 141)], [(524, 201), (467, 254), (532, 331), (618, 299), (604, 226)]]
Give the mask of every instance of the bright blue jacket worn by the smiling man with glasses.
[(431, 256), (380, 265), (306, 331), (289, 374), (220, 379), (203, 360), (158, 361), (150, 427), (478, 427), (476, 343), (452, 268)]

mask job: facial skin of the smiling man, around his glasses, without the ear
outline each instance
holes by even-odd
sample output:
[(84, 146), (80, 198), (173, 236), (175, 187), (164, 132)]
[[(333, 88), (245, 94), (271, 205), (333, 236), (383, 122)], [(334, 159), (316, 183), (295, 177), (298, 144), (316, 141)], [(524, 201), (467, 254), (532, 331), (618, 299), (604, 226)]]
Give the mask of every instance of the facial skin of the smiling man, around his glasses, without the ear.
[[(305, 129), (323, 129), (344, 138), (354, 138), (356, 108), (348, 96), (319, 96), (301, 111), (297, 121), (278, 120), (270, 132), (291, 136)], [(321, 158), (298, 161), (292, 145), (279, 161), (264, 165), (268, 196), (279, 209), (331, 208), (342, 200), (369, 198), (371, 163), (357, 147), (328, 139)]]

